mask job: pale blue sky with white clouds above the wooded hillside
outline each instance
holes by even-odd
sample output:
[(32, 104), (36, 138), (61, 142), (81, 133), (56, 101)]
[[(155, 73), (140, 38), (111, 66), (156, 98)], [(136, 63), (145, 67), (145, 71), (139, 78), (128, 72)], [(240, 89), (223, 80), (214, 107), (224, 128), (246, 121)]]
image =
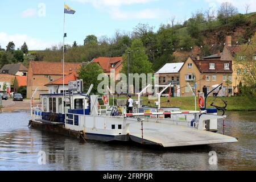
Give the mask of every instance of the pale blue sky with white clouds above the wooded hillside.
[(16, 48), (27, 43), (30, 50), (63, 43), (64, 3), (76, 10), (65, 15), (66, 43), (83, 44), (86, 35), (114, 36), (131, 32), (138, 23), (158, 30), (160, 24), (184, 22), (197, 10), (218, 9), (232, 2), (240, 13), (256, 11), (255, 0), (0, 0), (0, 46), (13, 41)]

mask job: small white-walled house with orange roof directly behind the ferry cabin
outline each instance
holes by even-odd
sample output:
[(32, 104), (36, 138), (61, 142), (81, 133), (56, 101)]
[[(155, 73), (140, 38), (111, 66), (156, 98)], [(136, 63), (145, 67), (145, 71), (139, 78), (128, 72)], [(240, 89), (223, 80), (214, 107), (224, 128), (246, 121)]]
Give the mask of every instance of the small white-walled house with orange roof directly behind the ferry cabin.
[(68, 82), (76, 81), (78, 78), (77, 73), (73, 72), (69, 75), (64, 76), (64, 89), (63, 89), (63, 77), (58, 78), (57, 80), (48, 82), (46, 85), (49, 93), (63, 93), (63, 90), (68, 90)]

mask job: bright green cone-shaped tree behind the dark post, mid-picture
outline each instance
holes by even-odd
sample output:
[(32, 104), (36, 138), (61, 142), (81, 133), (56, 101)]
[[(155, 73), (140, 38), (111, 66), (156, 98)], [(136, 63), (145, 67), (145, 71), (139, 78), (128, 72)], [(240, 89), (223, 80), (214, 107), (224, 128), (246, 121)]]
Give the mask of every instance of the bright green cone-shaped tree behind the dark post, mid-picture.
[(133, 50), (130, 53), (130, 73), (152, 73), (152, 63), (148, 61), (140, 39), (134, 39), (131, 43), (131, 47), (127, 48), (126, 52), (123, 54), (123, 67), (121, 72), (127, 75), (127, 57), (130, 50)]

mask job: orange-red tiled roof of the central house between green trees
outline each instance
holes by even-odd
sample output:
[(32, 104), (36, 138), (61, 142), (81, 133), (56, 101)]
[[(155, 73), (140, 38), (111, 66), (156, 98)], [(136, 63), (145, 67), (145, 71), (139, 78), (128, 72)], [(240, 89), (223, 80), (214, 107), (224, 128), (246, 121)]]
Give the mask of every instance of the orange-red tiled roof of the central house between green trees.
[(122, 57), (98, 57), (93, 59), (92, 63), (98, 63), (104, 72), (110, 72), (111, 65), (114, 64), (113, 69), (115, 69), (122, 64), (122, 60)]

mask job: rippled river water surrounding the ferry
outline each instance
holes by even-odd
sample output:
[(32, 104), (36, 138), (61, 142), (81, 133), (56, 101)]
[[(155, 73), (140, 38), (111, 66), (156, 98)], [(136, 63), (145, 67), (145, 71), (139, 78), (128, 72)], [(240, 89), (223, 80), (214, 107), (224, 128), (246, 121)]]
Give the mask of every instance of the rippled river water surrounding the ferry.
[[(168, 149), (82, 143), (28, 128), (28, 113), (0, 114), (0, 170), (256, 170), (256, 112), (227, 114), (225, 134), (239, 142)], [(222, 133), (221, 122), (218, 127)]]

